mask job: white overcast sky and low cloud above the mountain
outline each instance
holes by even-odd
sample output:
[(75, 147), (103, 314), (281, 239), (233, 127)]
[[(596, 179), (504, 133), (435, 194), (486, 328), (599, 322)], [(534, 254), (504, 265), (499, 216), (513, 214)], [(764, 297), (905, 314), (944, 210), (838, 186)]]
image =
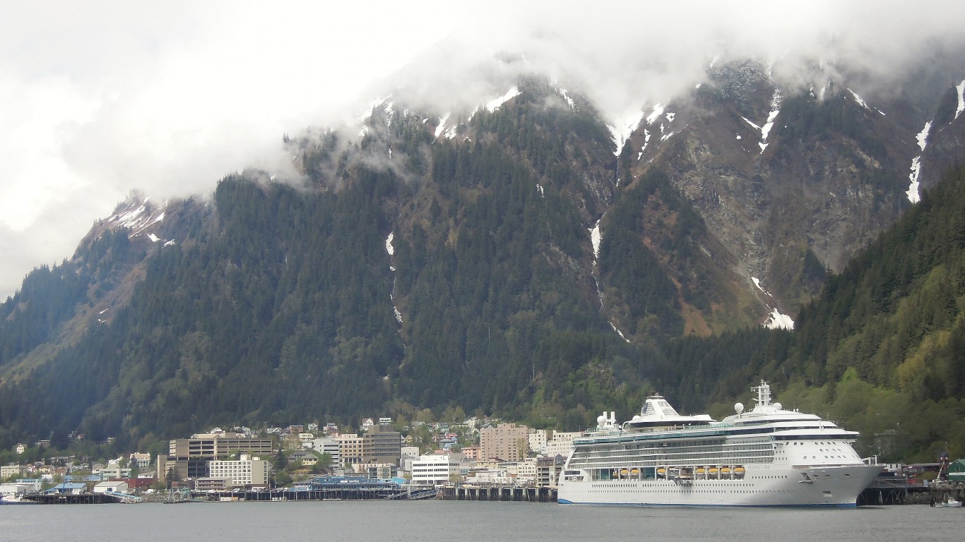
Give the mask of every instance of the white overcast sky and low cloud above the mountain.
[(725, 51), (886, 70), (965, 23), (946, 0), (6, 4), (0, 299), (69, 257), (130, 190), (164, 200), (270, 169), (283, 133), (357, 120), (387, 78), (443, 108), (483, 103), (496, 95), (480, 63), (519, 52), (518, 66), (582, 81), (617, 120)]

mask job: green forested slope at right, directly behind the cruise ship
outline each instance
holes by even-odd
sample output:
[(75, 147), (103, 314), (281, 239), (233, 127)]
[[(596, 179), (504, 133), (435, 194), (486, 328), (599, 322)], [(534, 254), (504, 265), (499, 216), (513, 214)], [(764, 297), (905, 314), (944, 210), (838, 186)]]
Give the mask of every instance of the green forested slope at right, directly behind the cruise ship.
[(726, 414), (726, 398), (749, 397), (745, 383), (764, 378), (784, 404), (862, 431), (866, 453), (965, 453), (965, 168), (928, 190), (798, 317), (793, 333), (673, 341), (659, 373), (679, 382), (672, 389), (688, 408), (714, 396)]

